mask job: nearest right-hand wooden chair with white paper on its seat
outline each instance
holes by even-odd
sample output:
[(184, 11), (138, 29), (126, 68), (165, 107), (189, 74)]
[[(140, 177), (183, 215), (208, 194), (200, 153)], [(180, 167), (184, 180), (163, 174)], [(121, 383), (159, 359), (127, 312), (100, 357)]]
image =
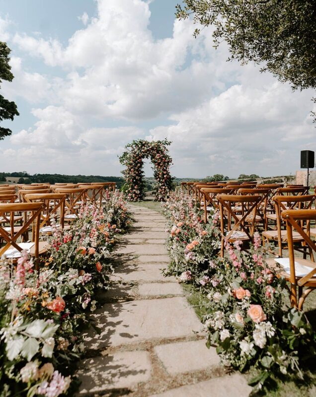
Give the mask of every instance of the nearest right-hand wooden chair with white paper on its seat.
[[(316, 221), (315, 209), (286, 210), (282, 212), (282, 218), (286, 222), (287, 240), (289, 243), (289, 267), (290, 271), (284, 272), (286, 279), (291, 283), (291, 304), (298, 309), (303, 308), (303, 303), (311, 291), (316, 289), (316, 253), (315, 242), (309, 235), (311, 221)], [(307, 224), (307, 229), (302, 228), (302, 223)], [(294, 232), (299, 233), (304, 243), (309, 247), (311, 260), (298, 258), (294, 253)], [(303, 268), (301, 266), (304, 266)], [(298, 271), (300, 270), (300, 275)], [(304, 274), (305, 273), (305, 274)], [(303, 288), (305, 288), (303, 290)]]

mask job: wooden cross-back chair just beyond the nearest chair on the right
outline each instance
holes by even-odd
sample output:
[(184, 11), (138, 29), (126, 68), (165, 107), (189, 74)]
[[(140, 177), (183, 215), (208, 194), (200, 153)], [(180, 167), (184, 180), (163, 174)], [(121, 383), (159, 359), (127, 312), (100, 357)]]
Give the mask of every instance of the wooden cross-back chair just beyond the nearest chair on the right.
[[(287, 232), (285, 229), (282, 230), (282, 226), (285, 224), (282, 222), (281, 213), (282, 211), (300, 210), (300, 209), (311, 209), (315, 202), (315, 195), (307, 196), (274, 196), (273, 201), (275, 203), (276, 212), (276, 230), (265, 230), (262, 232), (262, 241), (277, 241), (278, 242), (278, 256), (282, 257), (283, 246), (288, 244)], [(293, 232), (293, 241), (295, 243), (302, 243), (303, 239), (299, 233)], [(298, 251), (303, 252), (304, 257), (306, 256), (306, 249), (303, 247), (303, 251), (298, 248)]]

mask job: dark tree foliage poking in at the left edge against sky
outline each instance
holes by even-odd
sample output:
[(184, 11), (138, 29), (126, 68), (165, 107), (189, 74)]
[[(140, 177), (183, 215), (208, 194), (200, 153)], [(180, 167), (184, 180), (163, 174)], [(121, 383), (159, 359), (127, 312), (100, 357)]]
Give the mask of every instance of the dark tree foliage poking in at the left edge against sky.
[[(0, 83), (2, 80), (12, 81), (14, 76), (11, 73), (11, 66), (9, 65), (9, 54), (10, 49), (8, 46), (0, 42)], [(13, 101), (8, 101), (2, 95), (0, 95), (0, 122), (2, 120), (13, 120), (14, 116), (18, 116), (19, 112)], [(0, 139), (5, 136), (11, 135), (12, 131), (8, 128), (0, 127)]]

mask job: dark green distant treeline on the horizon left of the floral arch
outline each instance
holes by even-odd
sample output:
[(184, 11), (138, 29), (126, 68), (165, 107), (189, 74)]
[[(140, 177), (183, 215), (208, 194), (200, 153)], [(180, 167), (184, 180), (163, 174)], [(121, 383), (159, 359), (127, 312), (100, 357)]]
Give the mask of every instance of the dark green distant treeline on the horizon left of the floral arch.
[(0, 173), (0, 181), (6, 181), (9, 177), (19, 178), (16, 183), (89, 183), (89, 182), (116, 182), (120, 188), (124, 183), (121, 177), (105, 177), (100, 175), (61, 175), (61, 174), (34, 174), (29, 175), (27, 172), (4, 172)]

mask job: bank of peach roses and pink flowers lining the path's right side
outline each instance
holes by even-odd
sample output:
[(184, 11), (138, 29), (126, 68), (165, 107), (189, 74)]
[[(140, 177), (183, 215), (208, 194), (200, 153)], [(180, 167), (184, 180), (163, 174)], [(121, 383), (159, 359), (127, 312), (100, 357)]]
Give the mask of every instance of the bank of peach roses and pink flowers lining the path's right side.
[(241, 242), (220, 249), (219, 214), (204, 224), (200, 210), (181, 191), (164, 204), (170, 220), (167, 274), (192, 283), (202, 294), (208, 346), (216, 346), (225, 366), (258, 376), (249, 384), (261, 388), (270, 376), (303, 379), (302, 365), (315, 357), (316, 333), (304, 312), (289, 308), (289, 292), (276, 267), (266, 263), (269, 246), (257, 233), (248, 252)]

